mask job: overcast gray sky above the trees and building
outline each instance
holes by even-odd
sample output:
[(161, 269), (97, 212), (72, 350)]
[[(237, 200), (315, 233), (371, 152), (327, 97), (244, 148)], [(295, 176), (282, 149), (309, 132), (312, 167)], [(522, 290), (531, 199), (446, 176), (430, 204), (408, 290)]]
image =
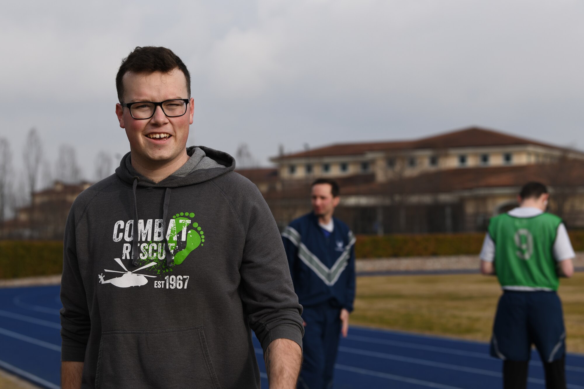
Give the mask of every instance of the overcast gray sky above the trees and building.
[[(192, 74), (189, 144), (277, 154), (477, 125), (584, 148), (582, 0), (27, 1), (0, 12), (0, 137), (36, 127), (93, 179), (129, 151), (120, 60), (166, 46)], [(114, 163), (117, 166), (119, 161)]]

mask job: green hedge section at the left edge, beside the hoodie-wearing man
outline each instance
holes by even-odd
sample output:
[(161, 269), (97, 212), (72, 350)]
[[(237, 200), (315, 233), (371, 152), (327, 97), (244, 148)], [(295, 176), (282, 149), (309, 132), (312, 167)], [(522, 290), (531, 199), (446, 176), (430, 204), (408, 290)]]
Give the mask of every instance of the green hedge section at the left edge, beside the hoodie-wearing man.
[(50, 276), (62, 270), (61, 241), (0, 240), (0, 279)]

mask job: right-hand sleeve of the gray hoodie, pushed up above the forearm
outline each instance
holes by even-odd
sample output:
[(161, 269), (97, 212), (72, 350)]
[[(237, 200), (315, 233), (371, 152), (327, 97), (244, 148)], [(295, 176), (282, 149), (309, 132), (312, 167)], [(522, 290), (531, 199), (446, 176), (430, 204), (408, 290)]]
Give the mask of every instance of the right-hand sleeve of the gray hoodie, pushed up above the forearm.
[(251, 182), (245, 186), (241, 189), (249, 192), (242, 208), (245, 246), (239, 273), (249, 325), (264, 351), (278, 338), (302, 347), (302, 305), (294, 293), (280, 232), (258, 188)]

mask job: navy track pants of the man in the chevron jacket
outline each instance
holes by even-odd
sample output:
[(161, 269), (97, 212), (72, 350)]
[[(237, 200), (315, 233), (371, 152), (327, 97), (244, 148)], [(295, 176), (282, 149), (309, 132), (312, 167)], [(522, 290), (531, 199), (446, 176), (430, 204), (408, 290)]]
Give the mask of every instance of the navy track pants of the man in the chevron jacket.
[(339, 348), (340, 308), (324, 303), (304, 307), (303, 363), (298, 389), (332, 388), (336, 352)]

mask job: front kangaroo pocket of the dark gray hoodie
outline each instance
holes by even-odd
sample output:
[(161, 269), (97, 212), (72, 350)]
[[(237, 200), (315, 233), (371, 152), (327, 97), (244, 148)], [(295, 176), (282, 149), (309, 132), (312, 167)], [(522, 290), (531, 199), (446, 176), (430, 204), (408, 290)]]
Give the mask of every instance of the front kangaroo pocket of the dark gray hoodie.
[(95, 387), (220, 389), (200, 325), (102, 332)]

